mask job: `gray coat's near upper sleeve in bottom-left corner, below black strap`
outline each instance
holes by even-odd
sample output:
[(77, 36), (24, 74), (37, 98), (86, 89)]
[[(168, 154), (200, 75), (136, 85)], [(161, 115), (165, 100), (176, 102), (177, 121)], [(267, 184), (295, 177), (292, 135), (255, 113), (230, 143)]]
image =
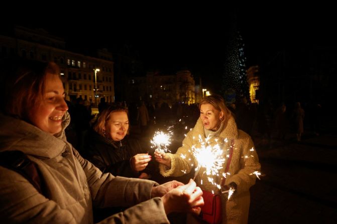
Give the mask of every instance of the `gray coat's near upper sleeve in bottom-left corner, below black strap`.
[(76, 223), (72, 213), (40, 194), (21, 174), (0, 166), (2, 223)]

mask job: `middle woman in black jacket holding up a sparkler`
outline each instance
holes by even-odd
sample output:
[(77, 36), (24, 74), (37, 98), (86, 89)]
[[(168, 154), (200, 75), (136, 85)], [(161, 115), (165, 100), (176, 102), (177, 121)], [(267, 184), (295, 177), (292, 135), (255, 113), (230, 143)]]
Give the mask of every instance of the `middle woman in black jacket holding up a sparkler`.
[(128, 131), (128, 110), (118, 104), (108, 106), (99, 113), (89, 133), (88, 160), (104, 173), (148, 179), (150, 170), (146, 167), (151, 155), (144, 153), (136, 139), (127, 136)]

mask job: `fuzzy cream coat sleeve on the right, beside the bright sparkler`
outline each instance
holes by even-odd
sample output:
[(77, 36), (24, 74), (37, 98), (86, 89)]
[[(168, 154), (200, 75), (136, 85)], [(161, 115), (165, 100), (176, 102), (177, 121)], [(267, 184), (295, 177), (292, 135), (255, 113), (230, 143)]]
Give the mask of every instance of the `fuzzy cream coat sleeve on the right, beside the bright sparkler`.
[[(227, 178), (226, 184), (235, 182), (237, 184), (237, 192), (240, 193), (248, 191), (255, 184), (256, 175), (253, 172), (260, 171), (261, 164), (259, 163), (254, 143), (249, 135), (244, 134), (243, 137), (239, 137), (236, 141), (239, 142), (235, 142), (234, 150), (239, 150), (237, 151), (239, 153), (233, 153), (230, 165), (230, 173), (235, 174)], [(240, 148), (236, 148), (236, 145)]]

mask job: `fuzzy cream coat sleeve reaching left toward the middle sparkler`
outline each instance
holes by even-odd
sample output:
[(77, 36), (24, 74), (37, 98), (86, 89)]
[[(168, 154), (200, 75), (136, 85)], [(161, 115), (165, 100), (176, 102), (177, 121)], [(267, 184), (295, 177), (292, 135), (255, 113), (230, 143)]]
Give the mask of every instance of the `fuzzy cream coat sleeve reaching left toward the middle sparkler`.
[(178, 148), (175, 154), (166, 153), (171, 158), (171, 168), (167, 169), (164, 164), (159, 164), (159, 170), (163, 176), (182, 176), (185, 173), (189, 173), (192, 167), (194, 167), (194, 156), (191, 153), (193, 144), (192, 135), (192, 131), (187, 133), (182, 141), (182, 146)]

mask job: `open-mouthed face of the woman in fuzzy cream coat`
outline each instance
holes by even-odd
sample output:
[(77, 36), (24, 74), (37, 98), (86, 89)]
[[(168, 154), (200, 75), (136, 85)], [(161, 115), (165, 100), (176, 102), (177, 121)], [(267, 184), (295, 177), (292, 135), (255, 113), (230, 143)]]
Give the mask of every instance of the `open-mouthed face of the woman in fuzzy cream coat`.
[(216, 110), (211, 104), (201, 104), (200, 118), (207, 130), (216, 131), (220, 127), (220, 118), (223, 119), (223, 113)]

